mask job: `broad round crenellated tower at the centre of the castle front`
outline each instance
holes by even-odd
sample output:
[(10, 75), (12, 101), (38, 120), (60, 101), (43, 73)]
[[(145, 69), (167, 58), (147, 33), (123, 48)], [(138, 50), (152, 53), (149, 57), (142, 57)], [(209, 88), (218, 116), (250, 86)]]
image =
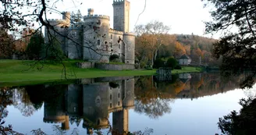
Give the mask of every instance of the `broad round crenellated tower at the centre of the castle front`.
[[(89, 10), (88, 10), (89, 11)], [(91, 11), (91, 9), (90, 9)], [(89, 13), (89, 12), (88, 12)], [(93, 62), (109, 62), (109, 16), (84, 16), (84, 59)]]

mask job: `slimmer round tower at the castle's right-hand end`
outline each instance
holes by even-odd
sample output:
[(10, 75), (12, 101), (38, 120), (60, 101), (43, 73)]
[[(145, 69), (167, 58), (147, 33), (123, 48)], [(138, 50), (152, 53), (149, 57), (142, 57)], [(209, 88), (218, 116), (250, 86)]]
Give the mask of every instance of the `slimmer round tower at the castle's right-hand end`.
[(125, 63), (135, 63), (135, 35), (133, 33), (123, 34), (123, 42), (125, 47)]

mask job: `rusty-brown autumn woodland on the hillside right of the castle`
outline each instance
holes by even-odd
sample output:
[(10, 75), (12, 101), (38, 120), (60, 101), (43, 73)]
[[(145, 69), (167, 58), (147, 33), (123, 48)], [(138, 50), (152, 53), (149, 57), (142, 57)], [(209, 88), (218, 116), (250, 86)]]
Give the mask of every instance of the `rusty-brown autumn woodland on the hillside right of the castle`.
[[(136, 58), (140, 67), (151, 65), (151, 60), (179, 59), (186, 54), (192, 59), (191, 65), (219, 66), (221, 59), (212, 57), (213, 44), (217, 41), (213, 38), (201, 37), (194, 34), (162, 34), (161, 44), (152, 48), (152, 36), (142, 34), (136, 37)], [(156, 53), (151, 53), (156, 49)], [(154, 54), (155, 56), (152, 56)]]

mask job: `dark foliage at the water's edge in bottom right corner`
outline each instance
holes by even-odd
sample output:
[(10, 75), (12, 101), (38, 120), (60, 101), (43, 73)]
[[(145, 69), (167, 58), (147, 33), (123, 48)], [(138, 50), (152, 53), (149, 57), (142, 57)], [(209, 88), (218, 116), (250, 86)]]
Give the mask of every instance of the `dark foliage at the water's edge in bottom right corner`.
[[(249, 77), (248, 77), (249, 76)], [(235, 110), (228, 115), (219, 118), (219, 129), (227, 135), (251, 135), (256, 133), (256, 94), (255, 78), (251, 78), (250, 73), (245, 73), (240, 77), (240, 87), (253, 88), (253, 91), (244, 90), (247, 94), (247, 99), (240, 99), (239, 104), (242, 106), (240, 112)], [(245, 79), (244, 79), (245, 78)], [(249, 78), (249, 80), (248, 80)]]

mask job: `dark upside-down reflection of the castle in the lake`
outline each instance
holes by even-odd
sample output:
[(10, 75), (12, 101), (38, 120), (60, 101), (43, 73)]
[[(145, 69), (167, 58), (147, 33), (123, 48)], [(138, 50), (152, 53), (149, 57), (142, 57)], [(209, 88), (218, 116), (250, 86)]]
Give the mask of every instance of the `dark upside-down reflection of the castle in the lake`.
[(92, 134), (93, 130), (109, 128), (112, 112), (112, 132), (129, 131), (129, 109), (134, 106), (133, 77), (83, 79), (79, 84), (66, 85), (63, 91), (62, 98), (44, 101), (44, 123), (62, 123), (62, 130), (69, 130), (69, 120), (80, 123), (83, 119), (83, 127)]

